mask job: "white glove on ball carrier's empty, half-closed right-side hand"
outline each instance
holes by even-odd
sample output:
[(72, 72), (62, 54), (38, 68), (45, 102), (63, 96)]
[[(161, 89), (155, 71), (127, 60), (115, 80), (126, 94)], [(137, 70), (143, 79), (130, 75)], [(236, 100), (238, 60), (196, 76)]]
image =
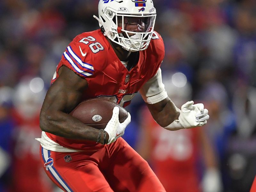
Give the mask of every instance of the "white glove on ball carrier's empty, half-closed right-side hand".
[(179, 122), (185, 128), (203, 126), (209, 119), (208, 110), (204, 109), (204, 104), (188, 101), (181, 106)]

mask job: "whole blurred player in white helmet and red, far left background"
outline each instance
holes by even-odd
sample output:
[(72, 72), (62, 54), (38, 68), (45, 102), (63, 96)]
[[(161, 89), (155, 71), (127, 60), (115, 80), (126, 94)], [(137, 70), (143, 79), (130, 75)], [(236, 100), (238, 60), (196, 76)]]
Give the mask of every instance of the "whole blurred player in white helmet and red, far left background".
[(37, 155), (39, 146), (34, 139), (41, 134), (38, 129), (39, 113), (45, 93), (44, 82), (39, 77), (24, 78), (14, 90), (15, 129), (11, 191), (50, 192), (53, 190), (51, 181), (42, 172), (40, 158)]

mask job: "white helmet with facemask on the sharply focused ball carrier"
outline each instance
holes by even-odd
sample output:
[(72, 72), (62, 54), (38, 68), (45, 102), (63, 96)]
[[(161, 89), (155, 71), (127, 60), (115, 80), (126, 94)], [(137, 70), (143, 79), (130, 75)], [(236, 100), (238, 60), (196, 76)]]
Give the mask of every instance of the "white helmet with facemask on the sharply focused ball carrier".
[(100, 0), (99, 21), (104, 35), (130, 52), (148, 48), (156, 21), (152, 0)]

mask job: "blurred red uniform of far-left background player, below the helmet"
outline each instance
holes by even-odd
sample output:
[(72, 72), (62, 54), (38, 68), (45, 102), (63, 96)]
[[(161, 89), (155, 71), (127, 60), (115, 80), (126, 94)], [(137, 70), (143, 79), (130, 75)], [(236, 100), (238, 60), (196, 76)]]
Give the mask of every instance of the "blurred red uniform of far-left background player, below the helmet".
[(39, 114), (32, 119), (24, 119), (17, 111), (12, 115), (16, 128), (12, 161), (13, 191), (53, 191), (52, 183), (45, 176), (37, 156), (39, 145), (34, 138), (41, 134), (38, 129)]

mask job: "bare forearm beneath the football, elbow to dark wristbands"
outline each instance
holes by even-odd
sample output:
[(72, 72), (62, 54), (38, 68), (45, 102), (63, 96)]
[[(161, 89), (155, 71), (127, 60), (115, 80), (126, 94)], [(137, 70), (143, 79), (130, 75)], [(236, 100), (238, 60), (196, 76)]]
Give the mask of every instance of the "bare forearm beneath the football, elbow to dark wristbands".
[[(99, 135), (98, 129), (85, 125), (76, 118), (61, 111), (52, 113), (41, 111), (40, 128), (44, 132), (68, 139), (97, 141)], [(103, 140), (103, 134), (101, 140)]]

